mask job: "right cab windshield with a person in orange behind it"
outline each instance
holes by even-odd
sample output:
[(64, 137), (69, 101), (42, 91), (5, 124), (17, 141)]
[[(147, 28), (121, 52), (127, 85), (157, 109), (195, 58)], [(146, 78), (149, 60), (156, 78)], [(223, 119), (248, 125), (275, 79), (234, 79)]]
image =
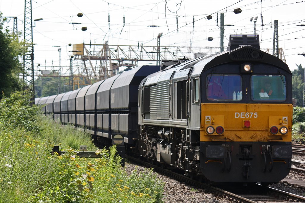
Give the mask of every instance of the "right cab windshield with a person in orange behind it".
[(253, 75), (251, 97), (253, 101), (285, 101), (286, 78), (283, 75)]

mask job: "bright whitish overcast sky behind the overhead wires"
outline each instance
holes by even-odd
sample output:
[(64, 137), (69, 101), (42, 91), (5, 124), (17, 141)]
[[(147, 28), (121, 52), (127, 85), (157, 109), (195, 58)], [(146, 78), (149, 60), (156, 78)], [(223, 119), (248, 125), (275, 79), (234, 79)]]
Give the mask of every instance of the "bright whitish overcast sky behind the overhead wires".
[[(236, 8), (241, 8), (242, 12), (235, 14)], [(260, 35), (261, 48), (264, 51), (269, 48), (272, 53), (274, 20), (278, 20), (279, 47), (283, 48), (286, 63), (293, 70), (295, 64), (304, 67), (305, 62), (305, 57), (298, 55), (305, 53), (305, 27), (298, 26), (305, 24), (304, 10), (302, 0), (32, 0), (33, 22), (43, 18), (33, 27), (34, 65), (40, 63), (41, 69), (50, 69), (53, 61), (53, 66), (58, 66), (57, 46), (62, 48), (61, 66), (69, 66), (69, 51), (72, 50), (69, 43), (108, 41), (109, 45), (156, 45), (160, 32), (163, 32), (161, 46), (186, 46), (179, 57), (194, 58), (195, 52), (216, 53), (220, 46), (217, 13), (220, 16), (222, 12), (224, 24), (234, 25), (225, 27), (225, 49), (230, 34), (253, 34), (250, 18), (258, 16), (256, 34)], [(17, 16), (18, 30), (23, 32), (23, 0), (0, 0), (0, 11), (3, 16)], [(77, 17), (80, 12), (84, 15)], [(264, 26), (261, 26), (261, 14)], [(208, 15), (212, 15), (211, 20), (206, 19)], [(148, 27), (150, 25), (159, 27)], [(7, 26), (13, 29), (13, 19)], [(88, 29), (82, 31), (81, 27)], [(208, 37), (213, 37), (213, 41), (208, 41)], [(81, 65), (82, 62), (75, 63)], [(48, 67), (43, 67), (45, 64)]]

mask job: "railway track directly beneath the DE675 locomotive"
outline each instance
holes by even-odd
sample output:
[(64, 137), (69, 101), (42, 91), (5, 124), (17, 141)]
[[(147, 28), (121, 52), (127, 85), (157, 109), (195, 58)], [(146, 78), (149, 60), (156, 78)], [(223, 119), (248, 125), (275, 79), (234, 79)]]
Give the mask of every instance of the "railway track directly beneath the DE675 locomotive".
[(305, 202), (305, 197), (291, 194), (285, 191), (280, 191), (271, 187), (264, 187), (259, 184), (251, 184), (247, 187), (241, 185), (221, 185), (212, 186), (204, 183), (202, 178), (188, 177), (175, 168), (164, 168), (163, 165), (155, 166), (151, 163), (138, 160), (137, 158), (127, 156), (128, 160), (138, 165), (148, 168), (154, 168), (156, 172), (170, 176), (181, 182), (188, 183), (189, 185), (200, 187), (210, 190), (213, 194), (217, 194), (227, 198), (231, 202), (251, 202), (251, 203), (275, 203), (275, 202)]

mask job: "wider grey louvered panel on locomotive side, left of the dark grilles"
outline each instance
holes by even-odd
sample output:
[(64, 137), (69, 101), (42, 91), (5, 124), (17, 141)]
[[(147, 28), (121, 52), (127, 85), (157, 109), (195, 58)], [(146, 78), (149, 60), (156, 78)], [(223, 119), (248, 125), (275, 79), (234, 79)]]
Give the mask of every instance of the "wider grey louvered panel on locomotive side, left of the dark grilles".
[(168, 82), (157, 84), (157, 119), (169, 119)]

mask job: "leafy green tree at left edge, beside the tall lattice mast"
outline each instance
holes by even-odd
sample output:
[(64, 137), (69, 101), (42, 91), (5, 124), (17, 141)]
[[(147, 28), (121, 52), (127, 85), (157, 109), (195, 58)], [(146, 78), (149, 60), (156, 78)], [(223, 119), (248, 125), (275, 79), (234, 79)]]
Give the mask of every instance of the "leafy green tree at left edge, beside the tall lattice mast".
[[(5, 27), (5, 18), (1, 18), (0, 12), (0, 93), (9, 96), (13, 91), (22, 88), (22, 80), (19, 74), (22, 73), (22, 65), (18, 56), (25, 53), (24, 42), (19, 42), (19, 34), (13, 34), (8, 27)], [(0, 94), (0, 99), (2, 94)]]

